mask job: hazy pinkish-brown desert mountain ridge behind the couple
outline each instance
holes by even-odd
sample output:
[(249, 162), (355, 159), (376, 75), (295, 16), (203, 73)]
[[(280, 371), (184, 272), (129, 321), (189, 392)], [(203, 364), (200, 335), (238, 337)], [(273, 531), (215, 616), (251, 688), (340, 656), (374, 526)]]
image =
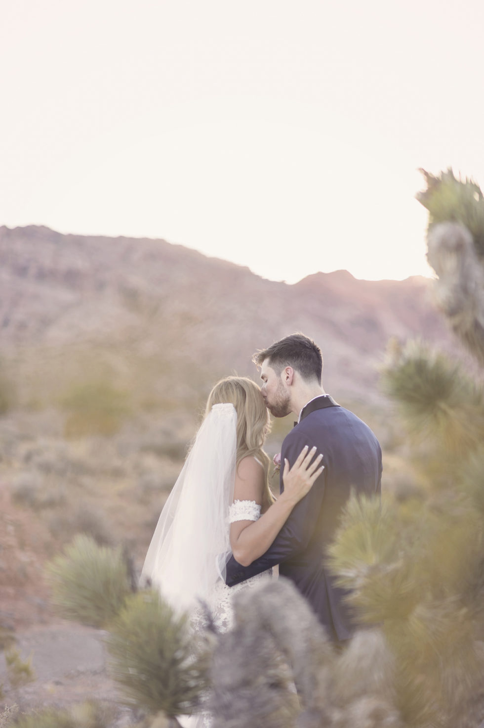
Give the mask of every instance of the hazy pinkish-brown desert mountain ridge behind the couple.
[[(444, 349), (432, 281), (359, 280), (347, 271), (275, 282), (247, 267), (151, 238), (0, 227), (0, 337), (18, 351), (109, 350), (160, 368), (160, 387), (209, 386), (223, 374), (257, 378), (252, 353), (303, 331), (323, 350), (323, 385), (336, 397), (379, 398), (391, 337)], [(41, 353), (42, 352), (42, 353)], [(143, 370), (144, 371), (144, 370)]]

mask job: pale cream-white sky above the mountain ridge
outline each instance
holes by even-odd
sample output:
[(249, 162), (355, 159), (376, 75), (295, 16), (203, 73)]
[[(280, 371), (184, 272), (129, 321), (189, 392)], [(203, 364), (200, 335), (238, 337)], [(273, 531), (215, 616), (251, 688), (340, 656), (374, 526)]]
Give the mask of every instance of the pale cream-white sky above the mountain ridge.
[(483, 0), (0, 6), (0, 224), (402, 279), (417, 168), (484, 185)]

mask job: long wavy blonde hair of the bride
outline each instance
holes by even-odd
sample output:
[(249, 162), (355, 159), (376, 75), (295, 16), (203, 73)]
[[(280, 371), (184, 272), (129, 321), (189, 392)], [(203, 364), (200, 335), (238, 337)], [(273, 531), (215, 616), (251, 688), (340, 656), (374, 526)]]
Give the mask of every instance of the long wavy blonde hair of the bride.
[(205, 416), (213, 405), (230, 403), (237, 413), (236, 464), (249, 455), (262, 463), (265, 476), (263, 503), (274, 502), (269, 487), (270, 458), (262, 450), (265, 437), (270, 431), (270, 416), (257, 384), (246, 376), (227, 376), (217, 381), (206, 402)]

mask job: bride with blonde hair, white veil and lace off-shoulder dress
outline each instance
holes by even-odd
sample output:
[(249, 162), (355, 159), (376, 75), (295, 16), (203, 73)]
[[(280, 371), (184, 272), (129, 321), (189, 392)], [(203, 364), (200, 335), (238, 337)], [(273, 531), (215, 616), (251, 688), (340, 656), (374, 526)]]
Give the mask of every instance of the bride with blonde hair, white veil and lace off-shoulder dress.
[(269, 413), (254, 381), (230, 376), (215, 384), (161, 512), (141, 578), (158, 587), (175, 609), (190, 612), (195, 630), (203, 628), (202, 603), (219, 631), (230, 629), (233, 594), (270, 571), (227, 587), (228, 558), (233, 553), (247, 566), (265, 553), (323, 470), (322, 454), (315, 458), (315, 449), (304, 448), (291, 468), (284, 464), (284, 489), (275, 500), (270, 459), (262, 450), (269, 429)]

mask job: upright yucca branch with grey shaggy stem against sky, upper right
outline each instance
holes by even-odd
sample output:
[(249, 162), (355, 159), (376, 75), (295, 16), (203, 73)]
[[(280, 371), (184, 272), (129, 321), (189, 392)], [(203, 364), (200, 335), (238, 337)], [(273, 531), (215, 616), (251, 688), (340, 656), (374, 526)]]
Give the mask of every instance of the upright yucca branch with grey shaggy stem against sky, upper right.
[(484, 363), (484, 199), (472, 180), (452, 170), (416, 197), (429, 210), (427, 258), (438, 278), (435, 298), (452, 330)]

